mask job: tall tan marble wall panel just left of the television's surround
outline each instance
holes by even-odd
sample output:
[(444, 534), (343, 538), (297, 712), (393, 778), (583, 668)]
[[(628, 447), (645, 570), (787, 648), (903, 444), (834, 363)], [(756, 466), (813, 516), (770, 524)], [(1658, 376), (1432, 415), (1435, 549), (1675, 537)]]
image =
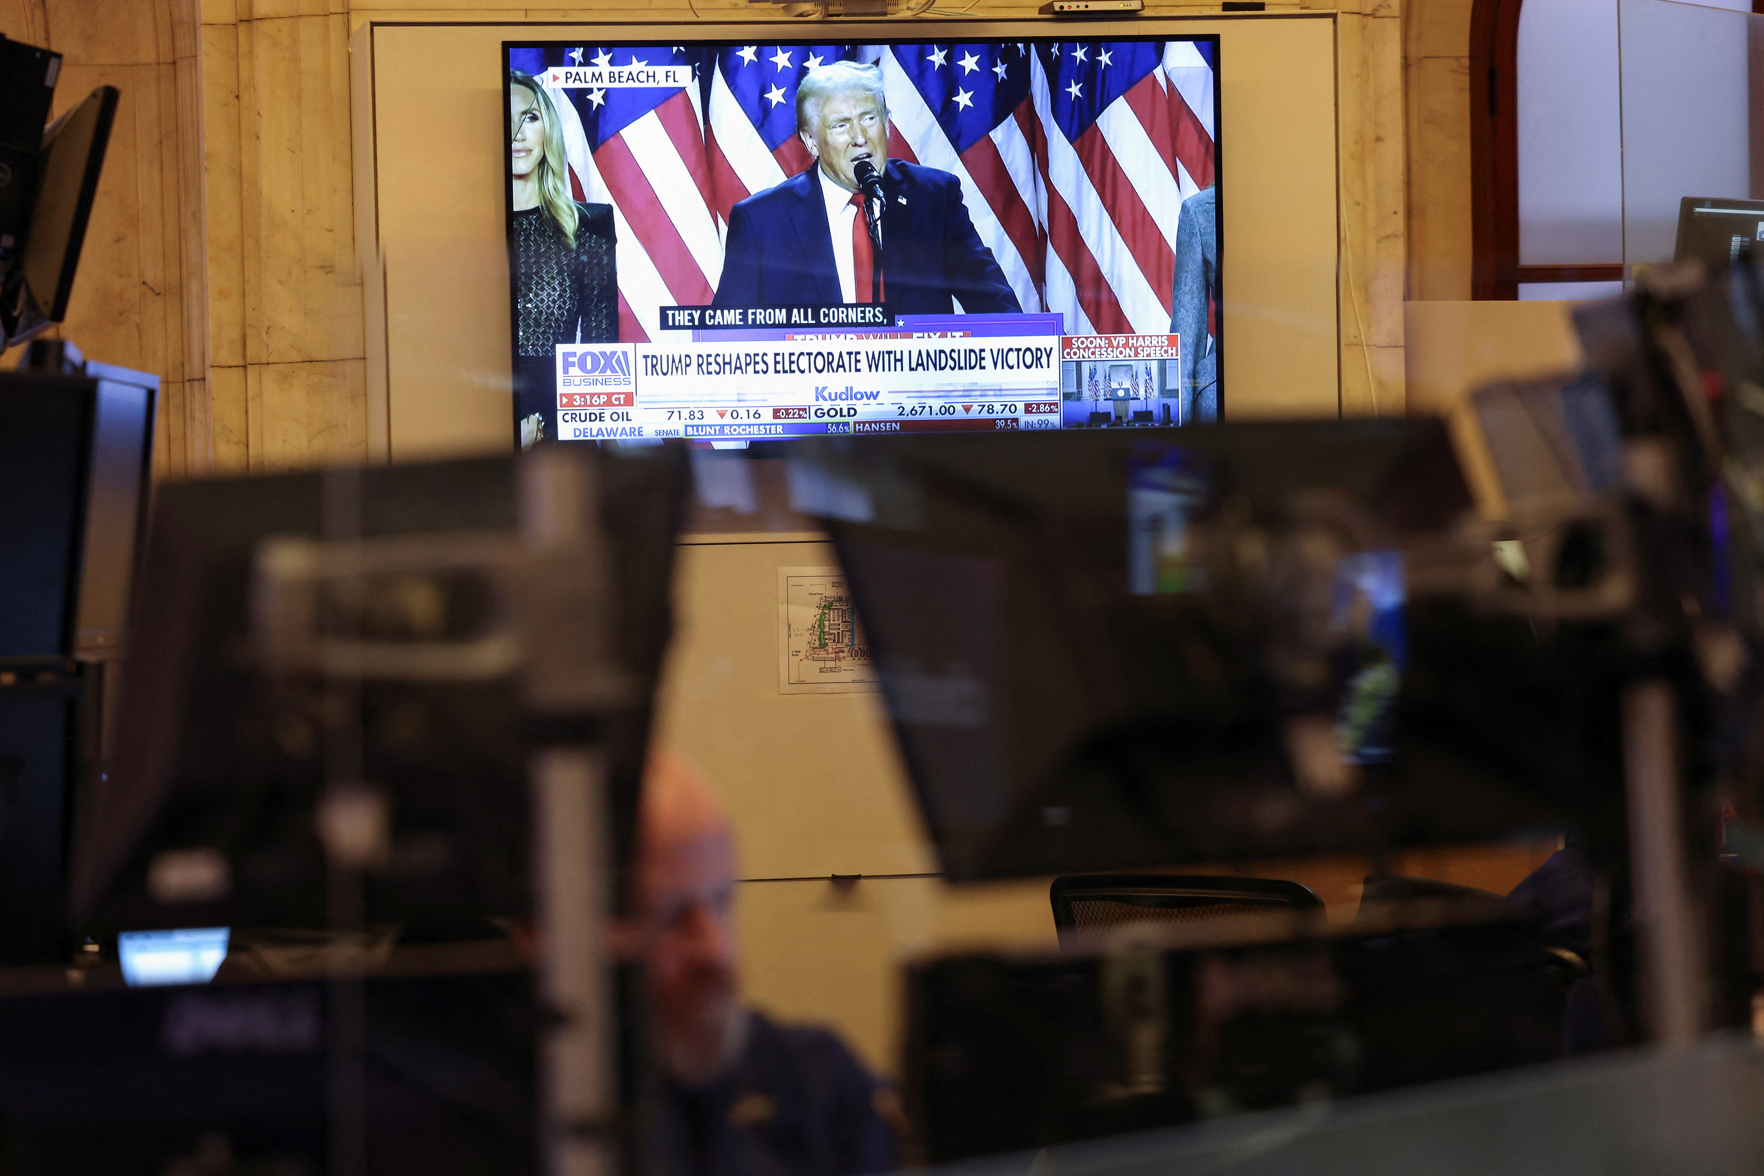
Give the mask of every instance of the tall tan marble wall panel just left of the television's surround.
[(367, 457), (344, 0), (205, 0), (217, 465)]

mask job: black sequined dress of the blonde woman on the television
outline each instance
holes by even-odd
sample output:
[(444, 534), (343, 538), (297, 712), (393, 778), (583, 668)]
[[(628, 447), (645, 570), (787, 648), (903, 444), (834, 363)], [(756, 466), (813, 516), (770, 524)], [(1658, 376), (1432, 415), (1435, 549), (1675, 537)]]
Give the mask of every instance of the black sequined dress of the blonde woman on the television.
[(508, 263), (515, 280), (515, 439), (534, 413), (545, 439), (557, 437), (557, 344), (619, 340), (619, 282), (612, 205), (577, 203), (575, 249), (543, 208), (508, 219)]

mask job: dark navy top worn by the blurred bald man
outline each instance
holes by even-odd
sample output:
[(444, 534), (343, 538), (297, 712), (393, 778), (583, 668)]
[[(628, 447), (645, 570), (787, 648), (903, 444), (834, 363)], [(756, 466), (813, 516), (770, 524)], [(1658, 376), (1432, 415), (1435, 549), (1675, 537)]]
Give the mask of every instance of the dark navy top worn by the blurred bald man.
[(654, 1176), (863, 1176), (898, 1164), (878, 1086), (826, 1030), (760, 1014), (734, 1068), (704, 1088), (663, 1084)]

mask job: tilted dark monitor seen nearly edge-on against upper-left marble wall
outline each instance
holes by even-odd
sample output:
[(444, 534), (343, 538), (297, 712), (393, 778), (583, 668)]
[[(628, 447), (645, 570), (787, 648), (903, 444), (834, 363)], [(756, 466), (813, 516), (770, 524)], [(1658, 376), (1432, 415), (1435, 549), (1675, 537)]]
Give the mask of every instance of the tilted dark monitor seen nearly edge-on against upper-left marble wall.
[(42, 134), (37, 205), (23, 249), (25, 289), (9, 330), (14, 344), (67, 317), (116, 99), (116, 86), (99, 86)]

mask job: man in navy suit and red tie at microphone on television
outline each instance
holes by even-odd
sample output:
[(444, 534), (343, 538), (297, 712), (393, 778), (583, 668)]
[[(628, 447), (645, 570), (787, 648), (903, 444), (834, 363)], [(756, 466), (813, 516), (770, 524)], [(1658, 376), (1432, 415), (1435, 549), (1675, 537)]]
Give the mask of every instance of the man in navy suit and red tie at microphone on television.
[(894, 314), (1020, 312), (1011, 284), (974, 231), (961, 182), (889, 162), (882, 71), (820, 65), (796, 92), (796, 127), (815, 166), (729, 213), (714, 305), (873, 301), (875, 242), (856, 167), (882, 175), (882, 301)]

